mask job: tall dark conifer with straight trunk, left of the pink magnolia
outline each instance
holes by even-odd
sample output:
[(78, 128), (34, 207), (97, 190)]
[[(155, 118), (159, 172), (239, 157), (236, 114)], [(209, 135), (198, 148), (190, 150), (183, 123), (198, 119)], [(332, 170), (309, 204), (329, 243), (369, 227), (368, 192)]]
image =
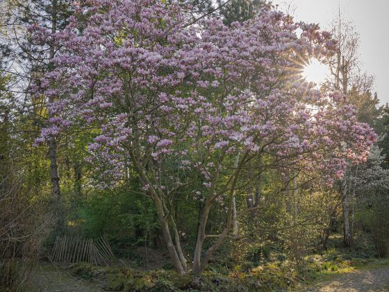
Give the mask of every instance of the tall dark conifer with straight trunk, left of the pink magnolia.
[[(39, 26), (42, 31), (47, 33), (57, 33), (65, 28), (67, 18), (70, 15), (69, 1), (67, 0), (31, 0), (9, 1), (8, 6), (8, 29), (10, 34), (10, 47), (13, 47), (13, 54), (10, 54), (10, 60), (15, 63), (13, 73), (19, 79), (24, 81), (24, 86), (19, 88), (24, 92), (24, 104), (27, 111), (33, 115), (33, 118), (43, 120), (53, 118), (50, 111), (44, 111), (43, 116), (36, 115), (32, 111), (33, 97), (28, 93), (31, 83), (38, 80), (44, 72), (53, 70), (51, 59), (56, 54), (56, 44), (51, 39), (49, 42), (35, 42), (28, 33), (28, 27)], [(19, 72), (19, 68), (24, 68)], [(36, 82), (35, 82), (36, 83)], [(53, 97), (48, 100), (42, 98), (42, 106), (48, 108), (53, 103)], [(57, 162), (57, 141), (56, 138), (49, 139), (49, 160), (50, 160), (50, 178), (51, 194), (53, 208), (56, 213), (56, 232), (61, 232), (63, 227), (63, 213), (61, 211), (60, 177), (58, 175)]]

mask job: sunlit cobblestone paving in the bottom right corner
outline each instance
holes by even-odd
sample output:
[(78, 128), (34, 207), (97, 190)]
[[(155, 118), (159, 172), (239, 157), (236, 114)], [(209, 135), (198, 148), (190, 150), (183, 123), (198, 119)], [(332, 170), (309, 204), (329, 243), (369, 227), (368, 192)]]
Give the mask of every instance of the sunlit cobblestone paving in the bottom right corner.
[(320, 283), (303, 291), (320, 292), (355, 292), (389, 291), (389, 268), (374, 268), (372, 270), (356, 270), (332, 279), (329, 282)]

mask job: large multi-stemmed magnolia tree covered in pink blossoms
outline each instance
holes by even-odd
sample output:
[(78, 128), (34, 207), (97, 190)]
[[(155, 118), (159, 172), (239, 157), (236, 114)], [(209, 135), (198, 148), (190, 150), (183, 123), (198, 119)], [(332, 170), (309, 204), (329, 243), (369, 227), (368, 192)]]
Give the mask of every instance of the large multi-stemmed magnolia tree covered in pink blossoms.
[[(99, 129), (89, 145), (99, 184), (115, 186), (128, 170), (138, 176), (178, 273), (188, 271), (172, 208), (179, 193), (203, 202), (192, 266), (201, 273), (233, 221), (250, 211), (233, 211), (233, 198), (249, 184), (252, 161), (273, 161), (256, 175), (280, 165), (320, 168), (331, 182), (347, 155), (363, 159), (375, 140), (342, 95), (299, 79), (302, 59), (333, 52), (331, 35), (316, 25), (270, 7), (231, 27), (193, 23), (190, 8), (152, 0), (92, 0), (77, 13), (60, 33), (34, 29), (36, 40), (58, 45), (55, 70), (37, 86), (56, 100), (54, 117), (36, 142), (67, 127)], [(226, 211), (224, 229), (206, 234), (215, 204)]]

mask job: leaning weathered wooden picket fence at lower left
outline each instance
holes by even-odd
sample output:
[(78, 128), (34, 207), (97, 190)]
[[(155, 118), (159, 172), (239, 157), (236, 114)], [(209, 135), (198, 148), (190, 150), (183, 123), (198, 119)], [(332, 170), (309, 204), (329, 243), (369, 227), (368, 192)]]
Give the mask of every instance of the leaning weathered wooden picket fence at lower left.
[(97, 241), (93, 241), (92, 238), (57, 236), (51, 251), (52, 261), (67, 263), (85, 261), (95, 266), (106, 265), (114, 257), (106, 236), (101, 236)]

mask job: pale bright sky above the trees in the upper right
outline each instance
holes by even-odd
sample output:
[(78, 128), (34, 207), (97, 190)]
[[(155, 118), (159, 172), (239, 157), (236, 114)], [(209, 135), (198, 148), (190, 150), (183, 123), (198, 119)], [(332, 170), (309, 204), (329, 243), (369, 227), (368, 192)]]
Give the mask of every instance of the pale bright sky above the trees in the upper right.
[(285, 11), (290, 4), (295, 21), (329, 27), (340, 11), (353, 22), (361, 37), (361, 62), (375, 76), (375, 88), (382, 104), (389, 102), (389, 0), (273, 0)]

